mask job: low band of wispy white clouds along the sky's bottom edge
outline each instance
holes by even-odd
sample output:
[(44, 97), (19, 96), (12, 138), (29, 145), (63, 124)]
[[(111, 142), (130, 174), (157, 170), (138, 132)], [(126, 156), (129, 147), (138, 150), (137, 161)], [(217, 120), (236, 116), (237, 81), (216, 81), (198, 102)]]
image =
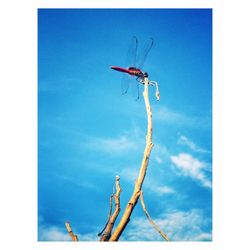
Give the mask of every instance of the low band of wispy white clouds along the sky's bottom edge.
[[(150, 212), (150, 211), (149, 211)], [(212, 234), (207, 225), (209, 220), (201, 210), (166, 211), (152, 218), (168, 235), (171, 241), (211, 241)], [(77, 234), (79, 241), (98, 241), (96, 232)], [(72, 241), (64, 226), (45, 226), (39, 228), (39, 241)], [(152, 228), (146, 216), (135, 217), (120, 238), (121, 241), (162, 241), (163, 239)]]

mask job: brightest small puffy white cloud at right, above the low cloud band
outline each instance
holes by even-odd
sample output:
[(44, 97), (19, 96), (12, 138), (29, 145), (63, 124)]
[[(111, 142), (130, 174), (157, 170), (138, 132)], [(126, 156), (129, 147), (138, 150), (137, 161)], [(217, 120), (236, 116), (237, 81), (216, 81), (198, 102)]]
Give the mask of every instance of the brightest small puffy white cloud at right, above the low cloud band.
[(178, 156), (171, 156), (171, 161), (184, 176), (189, 176), (207, 188), (212, 187), (211, 181), (206, 177), (207, 164), (194, 158), (192, 155), (180, 153)]

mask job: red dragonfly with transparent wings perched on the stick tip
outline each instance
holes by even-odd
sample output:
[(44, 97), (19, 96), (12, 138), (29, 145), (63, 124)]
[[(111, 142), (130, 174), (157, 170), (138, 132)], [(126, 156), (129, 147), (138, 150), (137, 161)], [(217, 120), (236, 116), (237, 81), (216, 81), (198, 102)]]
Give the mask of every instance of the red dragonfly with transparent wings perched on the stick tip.
[[(154, 44), (153, 38), (150, 38), (144, 45), (140, 54), (138, 53), (138, 39), (136, 36), (132, 37), (131, 45), (128, 51), (129, 67), (123, 68), (119, 66), (111, 66), (111, 69), (125, 73), (129, 77), (122, 78), (122, 94), (126, 94), (128, 92), (129, 87), (133, 87), (136, 92), (136, 100), (139, 99), (139, 84), (144, 84), (144, 77), (148, 77), (146, 72), (142, 71), (142, 67), (146, 61), (146, 58)], [(134, 81), (136, 79), (136, 82)]]

